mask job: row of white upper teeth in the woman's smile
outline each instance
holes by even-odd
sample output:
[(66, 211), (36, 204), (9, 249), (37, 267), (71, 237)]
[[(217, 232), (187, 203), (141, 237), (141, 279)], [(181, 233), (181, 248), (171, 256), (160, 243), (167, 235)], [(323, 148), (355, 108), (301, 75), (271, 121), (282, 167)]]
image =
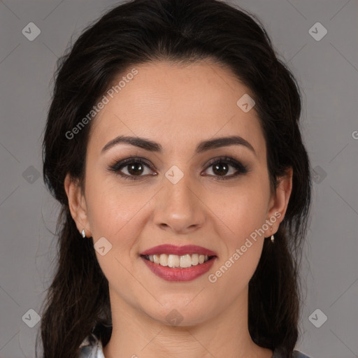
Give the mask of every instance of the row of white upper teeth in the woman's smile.
[(196, 266), (198, 264), (203, 264), (207, 262), (209, 257), (208, 255), (199, 255), (199, 254), (192, 254), (192, 255), (148, 255), (150, 262), (154, 262), (155, 264), (159, 264), (162, 266), (169, 266), (169, 267), (180, 267), (180, 268), (187, 268), (191, 266)]

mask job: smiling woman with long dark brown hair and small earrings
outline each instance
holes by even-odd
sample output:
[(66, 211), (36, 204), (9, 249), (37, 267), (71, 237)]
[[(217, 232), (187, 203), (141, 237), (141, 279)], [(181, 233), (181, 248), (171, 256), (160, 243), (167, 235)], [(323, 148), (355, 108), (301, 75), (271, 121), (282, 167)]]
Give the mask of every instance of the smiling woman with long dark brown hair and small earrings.
[(306, 357), (301, 95), (253, 16), (135, 0), (59, 62), (43, 176), (62, 205), (43, 357)]

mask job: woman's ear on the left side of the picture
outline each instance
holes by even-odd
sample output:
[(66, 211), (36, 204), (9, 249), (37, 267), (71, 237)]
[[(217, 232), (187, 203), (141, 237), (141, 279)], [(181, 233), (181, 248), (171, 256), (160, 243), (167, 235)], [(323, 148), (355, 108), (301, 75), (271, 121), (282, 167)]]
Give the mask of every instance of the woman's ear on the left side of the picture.
[(78, 180), (71, 178), (70, 174), (67, 173), (64, 180), (64, 189), (69, 199), (69, 209), (73, 220), (76, 222), (76, 226), (80, 234), (82, 235), (82, 230), (85, 229), (87, 237), (92, 236), (90, 232), (90, 224), (87, 215), (87, 204), (85, 201), (85, 196), (78, 184)]

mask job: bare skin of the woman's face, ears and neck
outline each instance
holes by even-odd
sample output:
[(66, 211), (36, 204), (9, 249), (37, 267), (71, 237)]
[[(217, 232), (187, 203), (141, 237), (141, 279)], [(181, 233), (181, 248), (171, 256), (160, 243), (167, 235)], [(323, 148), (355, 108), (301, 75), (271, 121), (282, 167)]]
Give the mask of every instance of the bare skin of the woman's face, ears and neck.
[[(208, 61), (186, 66), (156, 62), (136, 69), (134, 79), (94, 120), (84, 192), (70, 176), (64, 182), (78, 230), (85, 228), (87, 240), (92, 236), (96, 243), (104, 236), (112, 245), (104, 256), (96, 252), (109, 282), (113, 317), (113, 334), (104, 355), (271, 358), (272, 350), (250, 338), (248, 283), (265, 238), (275, 234), (285, 216), (292, 170), (271, 192), (255, 107), (244, 113), (236, 105), (250, 90), (229, 70)], [(148, 138), (162, 145), (163, 152), (120, 143), (101, 154), (103, 146), (119, 135)], [(194, 153), (201, 141), (231, 135), (245, 138), (255, 153), (244, 145)], [(136, 169), (132, 176), (139, 173), (139, 180), (124, 180), (108, 171), (116, 159), (129, 155), (152, 164), (142, 172)], [(215, 180), (236, 172), (229, 166), (228, 172), (215, 173), (215, 166), (207, 166), (210, 159), (222, 155), (247, 165), (250, 171)], [(165, 176), (173, 165), (184, 174), (175, 185)], [(122, 168), (127, 175), (129, 170), (128, 165)], [(272, 231), (252, 241), (226, 273), (215, 283), (209, 282), (208, 275), (274, 213), (280, 213), (280, 218)], [(217, 259), (208, 273), (195, 280), (169, 282), (152, 273), (139, 256), (163, 243), (203, 246), (217, 252)], [(174, 309), (182, 316), (178, 326), (166, 321)]]

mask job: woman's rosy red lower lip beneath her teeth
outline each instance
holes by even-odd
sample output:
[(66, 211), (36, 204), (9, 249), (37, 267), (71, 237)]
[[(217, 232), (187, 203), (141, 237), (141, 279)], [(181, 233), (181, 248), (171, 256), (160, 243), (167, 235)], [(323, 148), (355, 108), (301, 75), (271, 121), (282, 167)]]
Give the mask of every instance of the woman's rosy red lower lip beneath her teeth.
[(166, 281), (192, 281), (208, 272), (213, 266), (216, 257), (204, 262), (203, 264), (197, 264), (195, 266), (187, 268), (171, 268), (168, 266), (162, 266), (155, 264), (144, 257), (141, 257), (145, 264), (148, 266), (152, 273), (155, 273), (160, 278)]

